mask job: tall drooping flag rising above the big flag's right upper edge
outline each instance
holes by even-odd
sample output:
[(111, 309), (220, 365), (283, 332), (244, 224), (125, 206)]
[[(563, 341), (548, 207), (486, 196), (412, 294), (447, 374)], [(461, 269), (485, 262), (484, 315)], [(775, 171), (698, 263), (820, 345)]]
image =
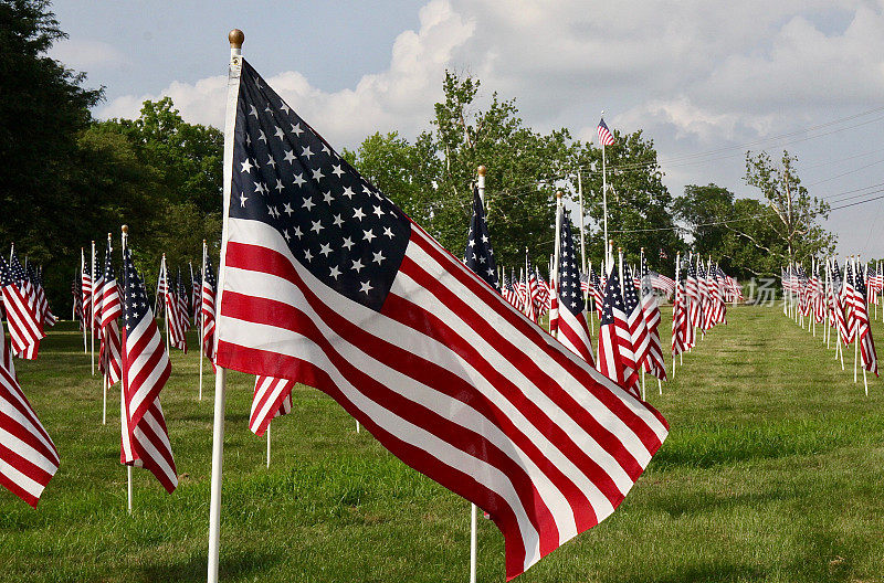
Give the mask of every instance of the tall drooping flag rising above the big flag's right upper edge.
[[(562, 212), (559, 210), (559, 212)], [(559, 273), (558, 273), (558, 324), (556, 338), (586, 360), (596, 365), (592, 358), (592, 342), (587, 326), (586, 301), (580, 292), (580, 271), (573, 251), (571, 222), (561, 218), (559, 230)]]

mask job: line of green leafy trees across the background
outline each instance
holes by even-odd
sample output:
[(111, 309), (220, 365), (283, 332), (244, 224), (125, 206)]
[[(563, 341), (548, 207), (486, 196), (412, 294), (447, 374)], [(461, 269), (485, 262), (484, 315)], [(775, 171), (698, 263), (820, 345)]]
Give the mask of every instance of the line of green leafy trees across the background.
[[(148, 285), (160, 255), (169, 265), (201, 261), (201, 242), (217, 257), (221, 234), (223, 135), (189, 124), (172, 100), (145, 102), (137, 119), (95, 119), (102, 87), (48, 56), (65, 38), (45, 0), (0, 0), (0, 244), (14, 242), (45, 267), (50, 301), (64, 314), (81, 246), (130, 227), (136, 263)], [(568, 128), (537, 131), (516, 102), (478, 78), (446, 72), (430, 129), (414, 139), (396, 131), (368, 136), (343, 155), (455, 255), (463, 254), (476, 168), (488, 168), (487, 221), (498, 263), (519, 266), (525, 250), (545, 265), (552, 252), (555, 192), (568, 197), (579, 224), (582, 188), (587, 252), (602, 256), (601, 149)], [(484, 104), (484, 105), (483, 105)], [(652, 267), (671, 273), (676, 253), (712, 255), (738, 277), (778, 274), (790, 258), (833, 248), (822, 222), (828, 205), (801, 186), (796, 159), (747, 152), (746, 182), (758, 198), (725, 187), (688, 186), (673, 195), (653, 139), (614, 129), (606, 148), (609, 230), (631, 261), (644, 247)], [(88, 253), (88, 250), (86, 250)]]

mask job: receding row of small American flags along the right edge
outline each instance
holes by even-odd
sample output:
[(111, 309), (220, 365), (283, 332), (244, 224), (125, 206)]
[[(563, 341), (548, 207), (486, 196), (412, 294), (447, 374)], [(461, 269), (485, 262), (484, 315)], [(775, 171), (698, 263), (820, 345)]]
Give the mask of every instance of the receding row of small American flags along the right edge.
[[(884, 272), (881, 263), (871, 269), (861, 264), (856, 257), (844, 261), (843, 275), (838, 261), (827, 258), (823, 273), (820, 263), (813, 261), (811, 273), (804, 271), (800, 263), (789, 264), (781, 268), (783, 290), (783, 314), (792, 316), (804, 326), (810, 324), (815, 336), (815, 325), (828, 325), (823, 329), (827, 344), (830, 344), (831, 329), (836, 332), (835, 350), (841, 354), (843, 368), (843, 347), (855, 342), (854, 356), (859, 356), (859, 364), (865, 372), (878, 374), (877, 352), (872, 336), (869, 305), (877, 305), (884, 292)], [(812, 326), (811, 326), (812, 325)], [(856, 360), (854, 360), (854, 382), (856, 381)], [(866, 394), (869, 386), (866, 383)]]

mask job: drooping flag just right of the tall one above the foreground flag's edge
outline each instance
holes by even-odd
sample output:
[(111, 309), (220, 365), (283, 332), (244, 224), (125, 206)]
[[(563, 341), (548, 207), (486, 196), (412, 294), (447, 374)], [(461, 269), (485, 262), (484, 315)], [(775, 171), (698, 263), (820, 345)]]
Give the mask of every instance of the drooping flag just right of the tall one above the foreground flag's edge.
[(627, 318), (620, 278), (617, 269), (611, 269), (604, 284), (604, 301), (599, 318), (599, 372), (625, 386), (638, 399), (639, 371)]

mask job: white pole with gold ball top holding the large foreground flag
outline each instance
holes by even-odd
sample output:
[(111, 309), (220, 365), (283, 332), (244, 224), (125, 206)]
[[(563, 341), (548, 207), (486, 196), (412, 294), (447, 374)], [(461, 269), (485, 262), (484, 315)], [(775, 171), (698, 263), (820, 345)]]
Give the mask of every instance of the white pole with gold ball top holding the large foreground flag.
[[(236, 99), (240, 93), (240, 73), (242, 71), (242, 43), (245, 35), (241, 30), (234, 29), (228, 34), (230, 41), (230, 67), (228, 72), (228, 102), (224, 119), (224, 221), (221, 245), (221, 261), (218, 265), (218, 294), (215, 296), (215, 312), (220, 314), (221, 300), (224, 294), (224, 261), (227, 241), (230, 236), (229, 215), (230, 189), (233, 181), (233, 130), (236, 126)], [(220, 318), (215, 319), (215, 343), (220, 329)], [(225, 399), (227, 370), (215, 367), (214, 375), (214, 426), (212, 430), (212, 495), (209, 505), (209, 561), (208, 583), (218, 583), (218, 558), (221, 543), (221, 477), (224, 463), (224, 399)]]

